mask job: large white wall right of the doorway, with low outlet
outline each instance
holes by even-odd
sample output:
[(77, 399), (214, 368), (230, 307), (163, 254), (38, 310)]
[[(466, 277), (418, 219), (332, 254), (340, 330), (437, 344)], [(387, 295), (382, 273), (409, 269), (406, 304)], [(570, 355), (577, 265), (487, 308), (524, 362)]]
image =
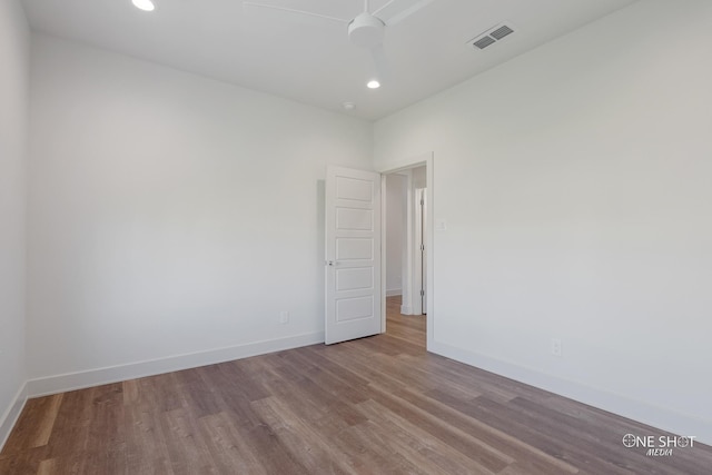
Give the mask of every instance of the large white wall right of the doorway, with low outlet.
[(435, 152), (432, 349), (712, 442), (710, 44), (636, 2), (376, 123)]

